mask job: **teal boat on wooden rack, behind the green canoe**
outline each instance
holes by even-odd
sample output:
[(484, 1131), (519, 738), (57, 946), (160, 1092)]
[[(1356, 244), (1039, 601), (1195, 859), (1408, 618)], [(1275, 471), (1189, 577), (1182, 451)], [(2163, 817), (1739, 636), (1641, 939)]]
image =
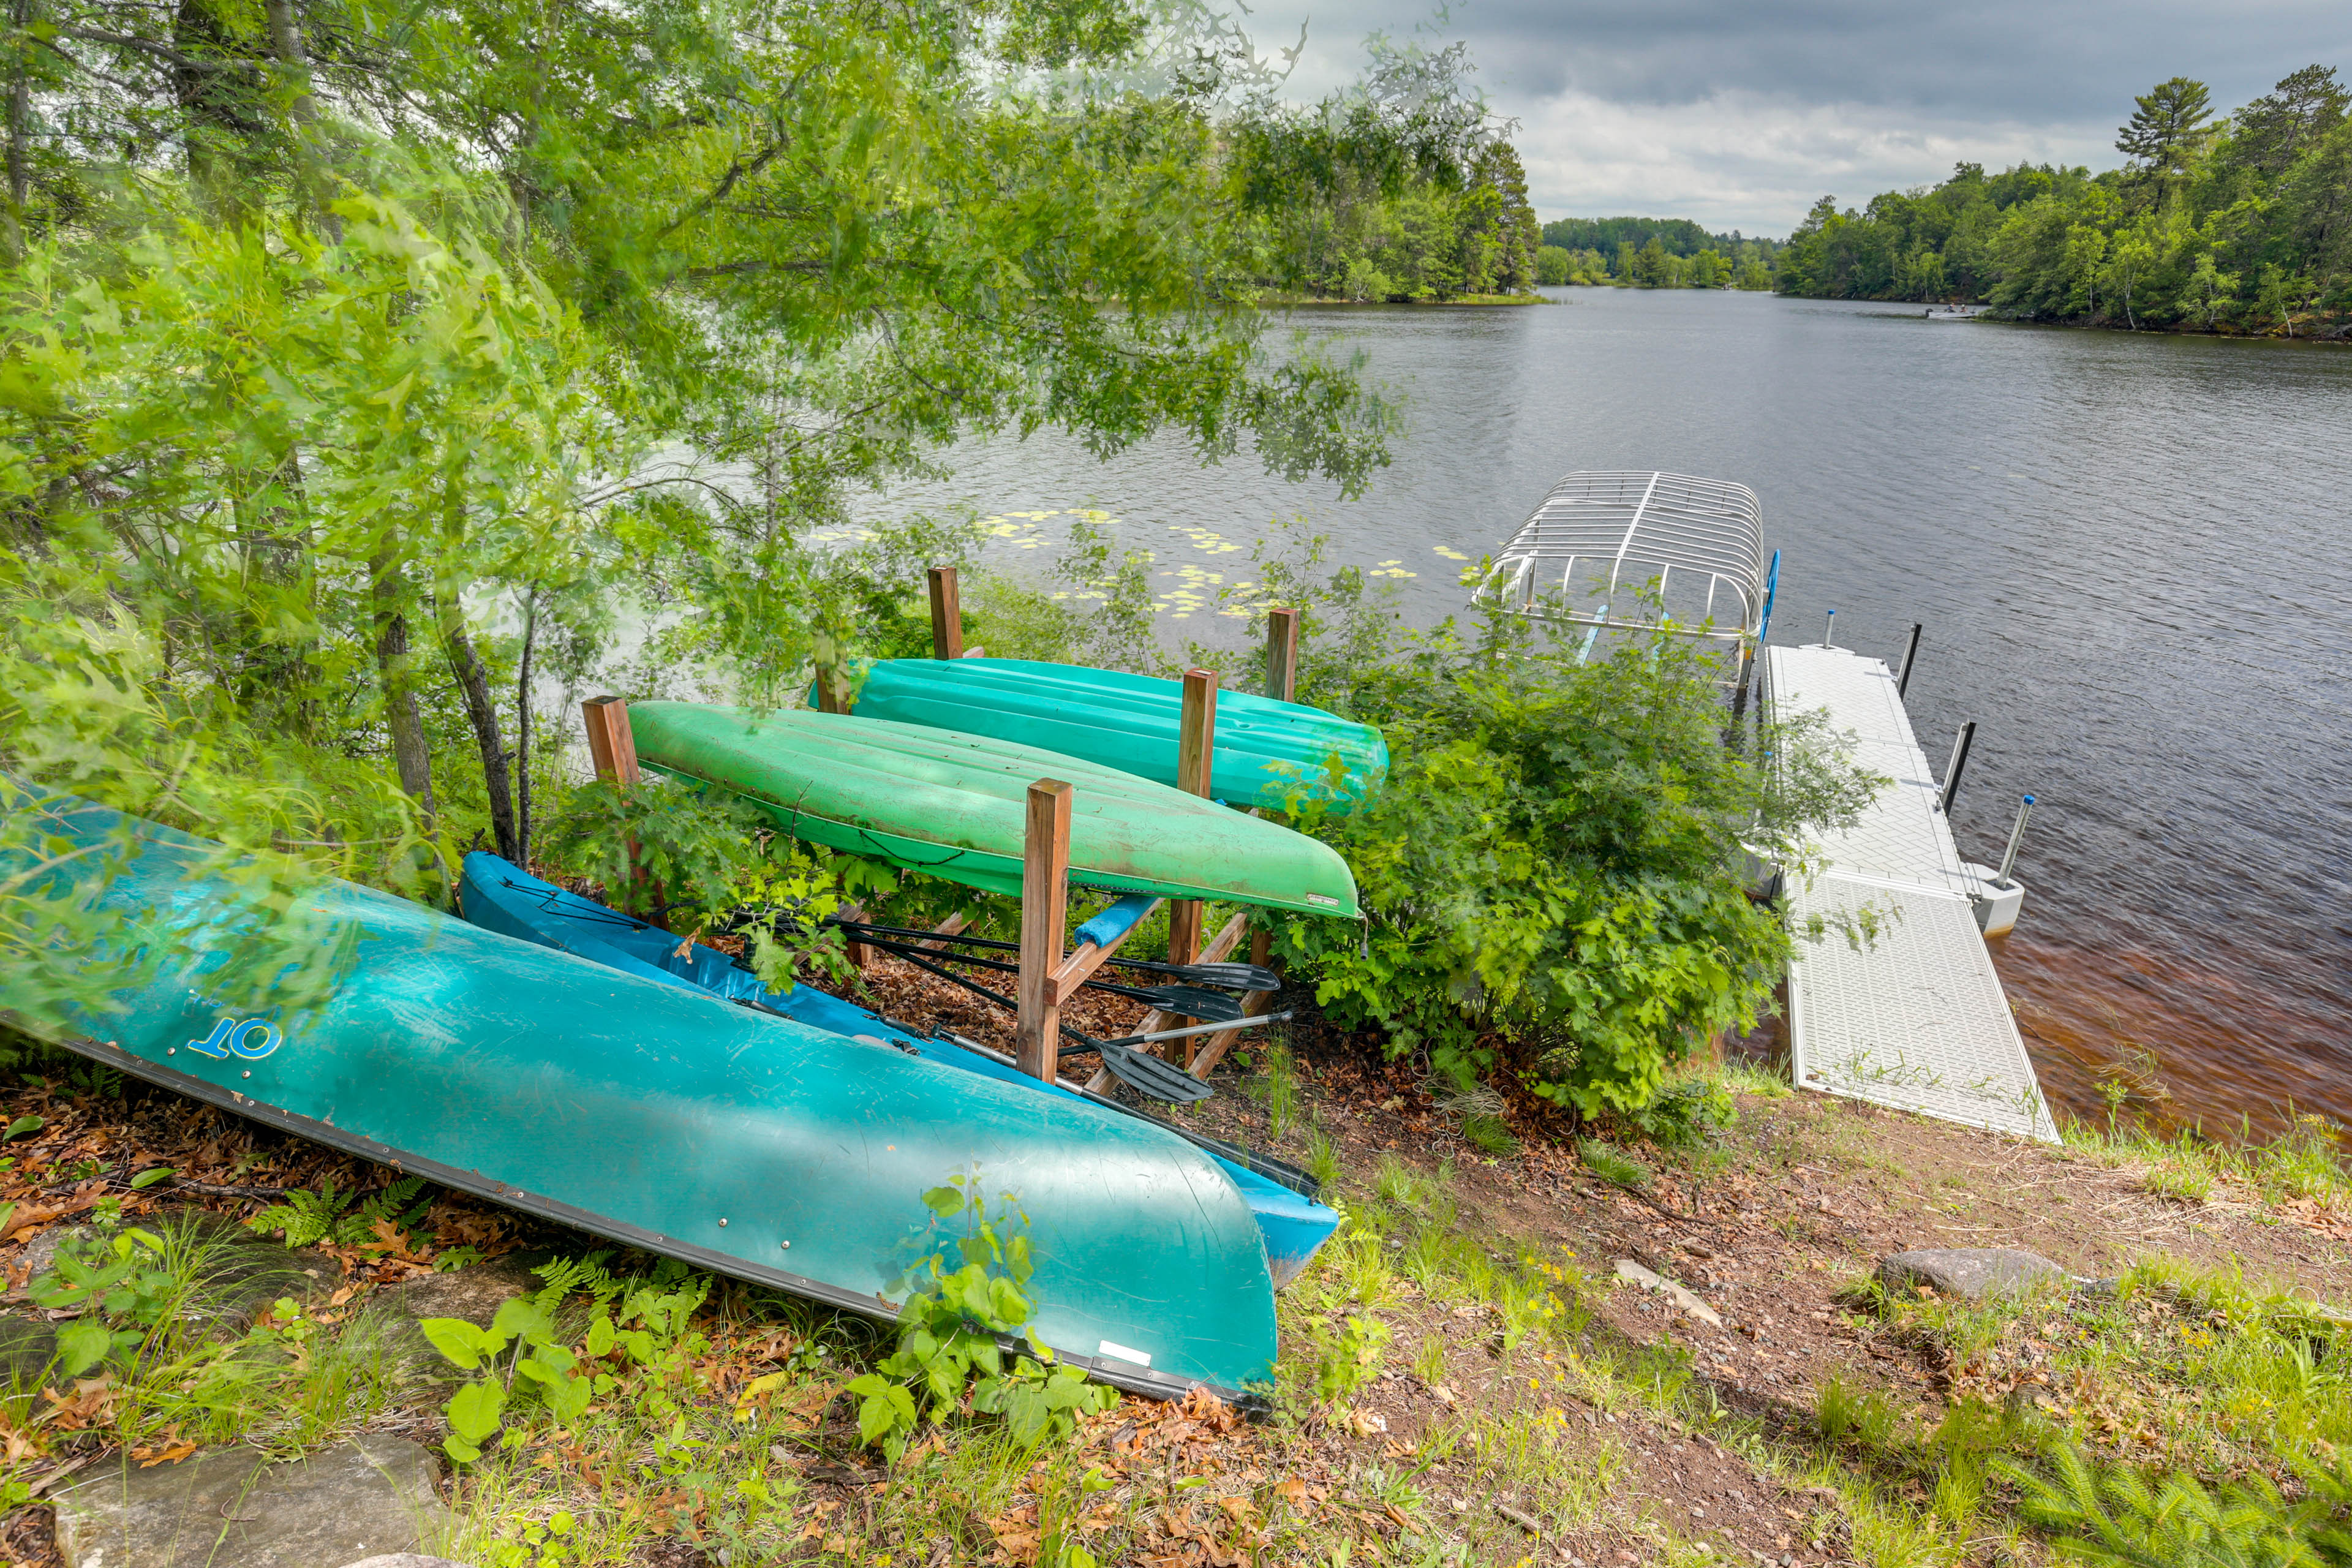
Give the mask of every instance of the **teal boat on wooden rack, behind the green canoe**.
[[(866, 670), (858, 717), (1018, 741), (1174, 785), (1183, 682), (1033, 658), (884, 658)], [(1345, 816), (1385, 776), (1388, 741), (1369, 724), (1249, 691), (1216, 693), (1209, 795), (1228, 806), (1322, 802)]]

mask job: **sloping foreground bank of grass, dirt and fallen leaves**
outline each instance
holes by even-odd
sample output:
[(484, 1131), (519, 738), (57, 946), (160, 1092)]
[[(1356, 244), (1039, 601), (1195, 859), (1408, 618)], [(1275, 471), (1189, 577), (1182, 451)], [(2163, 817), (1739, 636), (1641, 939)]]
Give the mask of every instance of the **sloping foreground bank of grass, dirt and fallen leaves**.
[[(103, 1074), (26, 1079), (7, 1107), (12, 1312), (42, 1232), (113, 1220), (172, 1244), (162, 1309), (118, 1316), (111, 1361), (19, 1375), (0, 1401), (5, 1540), (45, 1561), (35, 1490), (78, 1460), (292, 1455), (362, 1429), (440, 1443), (459, 1373), (419, 1345), (412, 1298), (459, 1265), (536, 1293), (581, 1356), (597, 1316), (642, 1335), (590, 1359), (607, 1382), (586, 1403), (517, 1396), (506, 1436), (456, 1467), (445, 1547), (470, 1563), (1891, 1568), (2046, 1561), (2100, 1528), (2154, 1556), (2096, 1561), (2239, 1561), (2164, 1544), (2131, 1476), (2237, 1486), (2241, 1505), (2277, 1486), (2237, 1530), (2321, 1549), (2352, 1443), (2352, 1187), (2317, 1128), (2267, 1150), (2077, 1128), (2060, 1152), (1740, 1067), (1693, 1079), (1731, 1114), (1682, 1147), (1562, 1147), (1508, 1110), (1470, 1140), (1463, 1107), (1402, 1072), (1296, 1046), (1223, 1070), (1195, 1112), (1317, 1166), (1345, 1211), (1279, 1300), (1270, 1415), (1127, 1399), (1033, 1446), (955, 1418), (896, 1465), (858, 1441), (847, 1392), (889, 1349), (873, 1324), (456, 1197), (367, 1211), (348, 1192), (386, 1173)], [(132, 1185), (155, 1168), (172, 1175)], [(296, 1237), (341, 1276), (207, 1335), (193, 1309), (223, 1286), (188, 1222), (202, 1211), (325, 1215)], [(1917, 1246), (2025, 1246), (2103, 1284), (1969, 1305), (1875, 1281)], [(1621, 1281), (1621, 1260), (1719, 1324)], [(2105, 1523), (2067, 1502), (2077, 1460), (2126, 1479), (2084, 1483)]]

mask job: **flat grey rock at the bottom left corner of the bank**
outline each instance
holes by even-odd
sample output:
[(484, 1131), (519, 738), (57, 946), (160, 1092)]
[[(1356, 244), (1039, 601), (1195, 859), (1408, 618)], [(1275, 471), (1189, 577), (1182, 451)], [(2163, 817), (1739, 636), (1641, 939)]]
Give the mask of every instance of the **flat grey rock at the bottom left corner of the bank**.
[(341, 1568), (416, 1563), (447, 1528), (430, 1450), (381, 1432), (273, 1465), (209, 1448), (179, 1465), (108, 1474), (56, 1495), (66, 1568)]

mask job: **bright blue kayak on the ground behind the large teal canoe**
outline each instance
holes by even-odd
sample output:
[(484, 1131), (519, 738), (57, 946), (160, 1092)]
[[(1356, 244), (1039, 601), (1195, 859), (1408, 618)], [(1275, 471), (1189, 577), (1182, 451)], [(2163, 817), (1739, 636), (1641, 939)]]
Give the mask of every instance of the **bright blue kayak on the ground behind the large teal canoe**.
[[(466, 856), (459, 896), (466, 905), (466, 919), (501, 936), (572, 952), (623, 973), (644, 976), (647, 980), (684, 985), (746, 1006), (769, 1009), (854, 1041), (894, 1046), (927, 1063), (974, 1072), (1030, 1093), (1084, 1100), (1122, 1114), (1136, 1114), (1101, 1095), (1061, 1088), (1058, 1084), (1040, 1084), (995, 1053), (981, 1053), (903, 1030), (851, 1001), (828, 997), (814, 985), (795, 985), (788, 992), (771, 994), (760, 985), (757, 976), (717, 947), (682, 943), (668, 931), (619, 910), (607, 910), (579, 893), (567, 893), (553, 882), (541, 882), (492, 853), (475, 851)], [(1138, 1119), (1167, 1126), (1178, 1138), (1202, 1145), (1209, 1159), (1240, 1187), (1242, 1199), (1258, 1222), (1258, 1232), (1265, 1237), (1265, 1267), (1275, 1288), (1296, 1279), (1315, 1255), (1315, 1248), (1338, 1227), (1338, 1211), (1315, 1201), (1315, 1178), (1305, 1171), (1270, 1161), (1263, 1154), (1223, 1140), (1174, 1128), (1157, 1117)]]

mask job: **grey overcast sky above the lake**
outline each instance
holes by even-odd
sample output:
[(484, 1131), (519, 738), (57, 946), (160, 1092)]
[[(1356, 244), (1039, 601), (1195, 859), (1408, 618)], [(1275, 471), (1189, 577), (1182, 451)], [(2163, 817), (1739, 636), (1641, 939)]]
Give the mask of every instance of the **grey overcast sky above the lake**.
[(1646, 214), (1785, 235), (1816, 197), (1860, 205), (1959, 160), (2119, 162), (2131, 96), (2169, 75), (2216, 110), (2312, 61), (2352, 78), (2352, 0), (1277, 0), (1296, 96), (1355, 75), (1371, 31), (1470, 40), (1543, 219)]

